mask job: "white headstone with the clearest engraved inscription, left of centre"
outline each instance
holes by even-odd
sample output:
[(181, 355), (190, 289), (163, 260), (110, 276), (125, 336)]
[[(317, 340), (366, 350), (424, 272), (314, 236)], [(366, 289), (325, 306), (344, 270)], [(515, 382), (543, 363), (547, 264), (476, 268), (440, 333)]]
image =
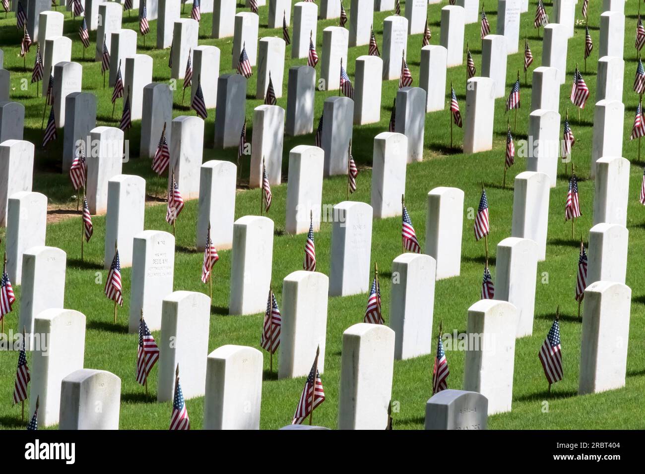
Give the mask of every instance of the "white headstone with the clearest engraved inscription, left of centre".
[(175, 237), (161, 230), (144, 230), (132, 240), (132, 286), (128, 331), (139, 331), (143, 318), (150, 331), (161, 329), (163, 298), (172, 293)]

